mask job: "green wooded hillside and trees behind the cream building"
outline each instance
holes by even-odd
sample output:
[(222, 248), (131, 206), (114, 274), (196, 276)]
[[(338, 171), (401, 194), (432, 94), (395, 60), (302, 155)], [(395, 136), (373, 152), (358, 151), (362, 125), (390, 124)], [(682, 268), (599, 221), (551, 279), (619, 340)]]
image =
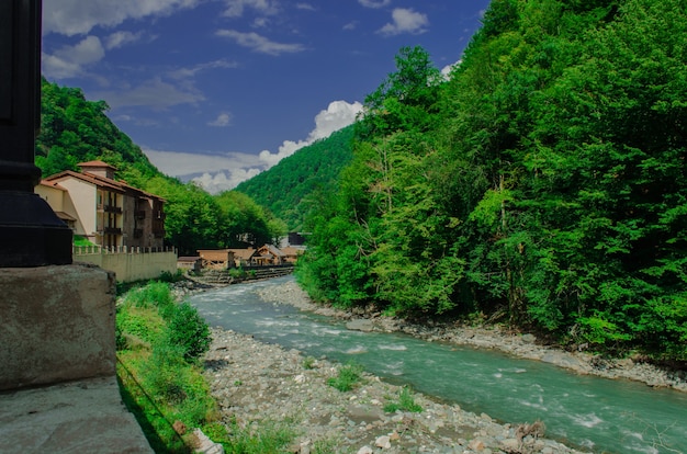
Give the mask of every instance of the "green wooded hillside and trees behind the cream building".
[(180, 254), (198, 249), (262, 246), (285, 232), (283, 222), (249, 196), (225, 192), (213, 196), (194, 183), (160, 173), (129, 137), (106, 116), (103, 101), (87, 101), (77, 88), (42, 82), (41, 133), (36, 166), (44, 177), (100, 159), (115, 167), (116, 178), (164, 197), (166, 242)]

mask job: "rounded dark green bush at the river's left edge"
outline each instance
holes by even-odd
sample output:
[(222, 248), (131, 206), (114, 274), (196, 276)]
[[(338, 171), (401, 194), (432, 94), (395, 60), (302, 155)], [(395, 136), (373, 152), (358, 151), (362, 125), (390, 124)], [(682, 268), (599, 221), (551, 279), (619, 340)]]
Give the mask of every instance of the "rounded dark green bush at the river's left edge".
[(193, 362), (210, 348), (212, 339), (210, 329), (198, 314), (198, 310), (188, 303), (182, 303), (169, 321), (169, 341), (181, 347), (183, 357)]

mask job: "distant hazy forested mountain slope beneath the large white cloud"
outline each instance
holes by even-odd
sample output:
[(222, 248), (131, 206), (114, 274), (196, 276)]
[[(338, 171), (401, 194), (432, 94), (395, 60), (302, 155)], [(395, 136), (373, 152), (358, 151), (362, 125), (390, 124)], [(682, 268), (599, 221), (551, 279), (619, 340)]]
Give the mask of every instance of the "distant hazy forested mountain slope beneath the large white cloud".
[(284, 220), (291, 231), (303, 229), (309, 200), (320, 191), (336, 191), (339, 172), (352, 159), (353, 126), (299, 149), (277, 166), (240, 183), (236, 191), (249, 195)]

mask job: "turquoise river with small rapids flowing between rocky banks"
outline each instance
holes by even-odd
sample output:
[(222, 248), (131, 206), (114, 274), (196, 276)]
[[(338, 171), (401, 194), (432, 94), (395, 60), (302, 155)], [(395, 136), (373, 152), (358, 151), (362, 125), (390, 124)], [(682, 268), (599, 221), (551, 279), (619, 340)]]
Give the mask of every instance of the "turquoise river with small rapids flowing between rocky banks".
[(380, 377), (503, 422), (542, 420), (547, 436), (608, 453), (687, 453), (687, 394), (630, 381), (577, 375), (492, 350), (427, 342), (401, 333), (347, 330), (342, 322), (264, 303), (257, 291), (278, 277), (193, 295), (211, 326), (353, 361)]

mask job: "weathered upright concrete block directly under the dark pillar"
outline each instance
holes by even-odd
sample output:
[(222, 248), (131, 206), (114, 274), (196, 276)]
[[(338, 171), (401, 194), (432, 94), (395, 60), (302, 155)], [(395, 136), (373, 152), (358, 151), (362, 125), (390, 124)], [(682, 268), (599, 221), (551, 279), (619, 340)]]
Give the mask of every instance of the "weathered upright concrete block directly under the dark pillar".
[(0, 390), (115, 376), (114, 292), (88, 264), (0, 269)]

